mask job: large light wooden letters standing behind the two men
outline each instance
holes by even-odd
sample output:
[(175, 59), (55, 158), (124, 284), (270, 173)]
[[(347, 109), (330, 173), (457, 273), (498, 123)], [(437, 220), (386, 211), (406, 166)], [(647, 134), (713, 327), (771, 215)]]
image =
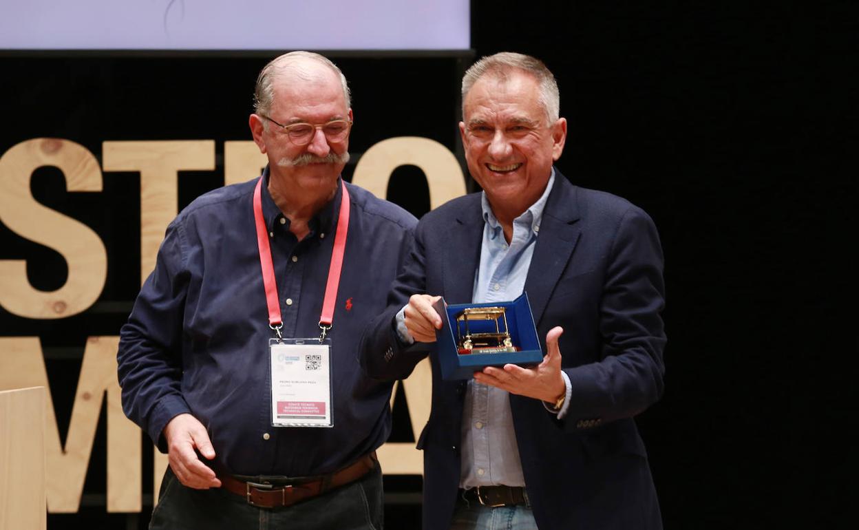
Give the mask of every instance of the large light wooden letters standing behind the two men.
[[(107, 253), (99, 235), (75, 219), (39, 204), (30, 191), (37, 168), (52, 166), (64, 175), (70, 192), (101, 192), (102, 171), (140, 174), (141, 283), (155, 267), (155, 255), (168, 223), (178, 213), (178, 172), (211, 171), (216, 166), (212, 140), (125, 141), (102, 143), (103, 167), (81, 145), (61, 138), (34, 138), (18, 143), (0, 157), (0, 222), (9, 229), (60, 253), (69, 268), (59, 289), (35, 289), (27, 279), (27, 263), (0, 260), (0, 306), (28, 319), (63, 319), (85, 311), (101, 295), (107, 278)], [(266, 162), (253, 142), (223, 145), (225, 184), (247, 180)], [(385, 198), (391, 173), (403, 165), (423, 170), (430, 190), (430, 208), (466, 192), (459, 162), (441, 143), (423, 137), (394, 137), (376, 143), (361, 157), (352, 182)], [(52, 479), (46, 484), (47, 509), (76, 512), (92, 453), (101, 405), (107, 395), (107, 511), (139, 512), (142, 495), (140, 429), (122, 412), (116, 376), (119, 337), (89, 337), (83, 354), (70, 427), (60, 440), (45, 361), (38, 337), (0, 338), (0, 390), (45, 387), (45, 459)], [(408, 396), (415, 439), (430, 417), (430, 365), (421, 362), (411, 377), (394, 387), (391, 397)], [(32, 418), (37, 416), (32, 416)], [(41, 416), (38, 416), (41, 420)], [(5, 420), (4, 420), (5, 421)], [(5, 428), (5, 425), (3, 425)], [(18, 447), (18, 446), (15, 446)], [(6, 450), (4, 446), (0, 446)], [(4, 458), (26, 456), (25, 451)], [(30, 452), (35, 449), (27, 448)], [(389, 474), (422, 474), (420, 452), (412, 443), (387, 443), (379, 451)], [(9, 460), (4, 460), (9, 461)], [(155, 449), (157, 502), (167, 456)], [(6, 473), (3, 472), (3, 476)], [(35, 502), (39, 502), (36, 499)]]

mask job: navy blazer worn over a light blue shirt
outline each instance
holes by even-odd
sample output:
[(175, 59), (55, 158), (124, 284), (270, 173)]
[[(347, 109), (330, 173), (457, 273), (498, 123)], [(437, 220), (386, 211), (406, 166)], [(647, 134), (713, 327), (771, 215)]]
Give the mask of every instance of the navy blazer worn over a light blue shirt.
[[(456, 198), (417, 225), (388, 297), (362, 337), (362, 367), (405, 378), (430, 353), (432, 411), (423, 448), (423, 527), (448, 528), (460, 482), (466, 383), (442, 381), (432, 344), (405, 347), (393, 317), (410, 295), (472, 302), (483, 238), (480, 194)], [(563, 326), (562, 368), (572, 399), (564, 419), (542, 402), (510, 395), (516, 442), (541, 529), (661, 528), (641, 437), (632, 419), (662, 394), (666, 338), (662, 251), (650, 217), (623, 198), (573, 186), (556, 170), (525, 282), (545, 352)]]

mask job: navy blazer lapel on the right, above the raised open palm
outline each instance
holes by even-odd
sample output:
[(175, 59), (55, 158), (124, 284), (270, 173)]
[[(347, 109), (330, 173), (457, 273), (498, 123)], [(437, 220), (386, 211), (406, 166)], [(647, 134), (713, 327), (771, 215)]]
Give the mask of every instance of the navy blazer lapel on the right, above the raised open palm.
[(576, 186), (556, 169), (555, 185), (543, 210), (537, 245), (525, 280), (534, 324), (538, 326), (551, 291), (555, 289), (581, 235), (582, 229), (576, 223), (578, 220)]

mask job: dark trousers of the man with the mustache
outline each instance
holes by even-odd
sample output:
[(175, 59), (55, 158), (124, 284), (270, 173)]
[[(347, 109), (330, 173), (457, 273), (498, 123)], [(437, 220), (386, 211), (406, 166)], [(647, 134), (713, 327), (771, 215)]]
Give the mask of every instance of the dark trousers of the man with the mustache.
[(168, 467), (161, 482), (151, 530), (379, 530), (382, 527), (381, 468), (355, 482), (285, 508), (260, 509), (220, 488), (194, 490)]

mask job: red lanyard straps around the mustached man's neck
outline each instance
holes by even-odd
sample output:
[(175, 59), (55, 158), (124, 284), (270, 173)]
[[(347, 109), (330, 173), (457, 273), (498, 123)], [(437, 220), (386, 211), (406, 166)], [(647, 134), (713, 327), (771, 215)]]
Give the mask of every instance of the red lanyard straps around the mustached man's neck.
[[(263, 269), (263, 285), (265, 286), (265, 302), (269, 310), (269, 326), (281, 338), (280, 329), (283, 320), (280, 318), (280, 299), (277, 298), (277, 282), (274, 277), (274, 264), (271, 261), (268, 230), (263, 219), (262, 202), (263, 178), (259, 177), (257, 187), (253, 190), (253, 219), (257, 223), (257, 246), (259, 247), (259, 265)], [(346, 233), (349, 231), (349, 192), (340, 180), (343, 196), (340, 198), (340, 215), (337, 221), (337, 235), (334, 236), (334, 248), (331, 253), (331, 266), (328, 268), (328, 281), (325, 286), (325, 301), (322, 302), (320, 315), (320, 340), (325, 339), (326, 332), (331, 329), (334, 320), (334, 303), (337, 302), (337, 289), (340, 285), (340, 271), (343, 269), (343, 254), (346, 250)]]

